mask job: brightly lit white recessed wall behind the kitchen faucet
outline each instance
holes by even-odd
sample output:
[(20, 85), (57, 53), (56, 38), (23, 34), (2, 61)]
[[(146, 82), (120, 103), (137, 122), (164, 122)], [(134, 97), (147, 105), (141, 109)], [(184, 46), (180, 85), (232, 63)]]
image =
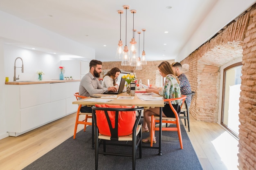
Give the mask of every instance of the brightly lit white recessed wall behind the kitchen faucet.
[[(21, 68), (16, 68), (16, 77), (20, 75), (17, 81), (37, 80), (38, 70), (45, 73), (43, 80), (59, 79), (60, 56), (4, 44), (4, 76), (9, 77), (9, 81), (13, 81), (14, 62), (17, 57), (22, 58), (24, 65), (24, 73), (21, 73)], [(21, 60), (16, 60), (16, 67), (21, 66)]]

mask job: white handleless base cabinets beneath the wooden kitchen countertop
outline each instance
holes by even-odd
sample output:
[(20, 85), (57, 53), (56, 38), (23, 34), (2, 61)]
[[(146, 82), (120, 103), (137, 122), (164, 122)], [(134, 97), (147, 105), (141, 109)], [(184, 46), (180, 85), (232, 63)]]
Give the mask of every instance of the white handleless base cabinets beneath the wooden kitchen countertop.
[(9, 136), (18, 136), (77, 111), (80, 82), (5, 85)]

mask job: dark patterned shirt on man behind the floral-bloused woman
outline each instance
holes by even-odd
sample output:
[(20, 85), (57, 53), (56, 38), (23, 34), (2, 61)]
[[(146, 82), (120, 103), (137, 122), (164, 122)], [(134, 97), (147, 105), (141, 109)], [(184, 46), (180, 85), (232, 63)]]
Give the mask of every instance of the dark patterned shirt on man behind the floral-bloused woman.
[[(182, 95), (187, 95), (192, 93), (191, 92), (191, 86), (189, 83), (189, 80), (186, 78), (186, 75), (182, 73), (178, 76), (178, 79), (180, 80), (180, 91)], [(191, 96), (186, 97), (186, 103), (190, 106), (191, 104)]]

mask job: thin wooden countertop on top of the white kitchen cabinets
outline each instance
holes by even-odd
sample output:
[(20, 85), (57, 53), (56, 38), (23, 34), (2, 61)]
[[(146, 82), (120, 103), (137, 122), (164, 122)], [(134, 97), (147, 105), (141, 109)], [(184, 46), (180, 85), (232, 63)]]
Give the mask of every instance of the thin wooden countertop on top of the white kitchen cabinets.
[(64, 83), (64, 82), (80, 82), (80, 79), (72, 79), (72, 80), (43, 80), (43, 81), (16, 81), (16, 82), (5, 82), (5, 84), (9, 85), (24, 85), (24, 84), (45, 84), (45, 83)]

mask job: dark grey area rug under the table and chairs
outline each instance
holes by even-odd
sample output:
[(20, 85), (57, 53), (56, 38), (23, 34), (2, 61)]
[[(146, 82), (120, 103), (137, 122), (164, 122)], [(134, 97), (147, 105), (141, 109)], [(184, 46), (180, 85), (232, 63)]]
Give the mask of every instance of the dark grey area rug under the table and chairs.
[[(158, 149), (142, 148), (142, 158), (139, 159), (137, 150), (136, 170), (202, 170), (202, 166), (191, 145), (183, 126), (183, 149), (177, 132), (162, 132), (162, 155)], [(143, 133), (146, 138), (149, 133)], [(156, 131), (158, 139), (158, 131)], [(70, 137), (62, 144), (47, 152), (45, 155), (25, 167), (23, 170), (94, 170), (94, 150), (92, 146), (92, 128), (86, 128), (77, 133), (76, 139)], [(150, 144), (143, 144), (149, 146)], [(158, 146), (158, 144), (153, 144)], [(101, 145), (100, 148), (103, 148)], [(107, 149), (130, 152), (130, 147), (107, 146)], [(132, 170), (131, 157), (99, 155), (99, 170)]]

